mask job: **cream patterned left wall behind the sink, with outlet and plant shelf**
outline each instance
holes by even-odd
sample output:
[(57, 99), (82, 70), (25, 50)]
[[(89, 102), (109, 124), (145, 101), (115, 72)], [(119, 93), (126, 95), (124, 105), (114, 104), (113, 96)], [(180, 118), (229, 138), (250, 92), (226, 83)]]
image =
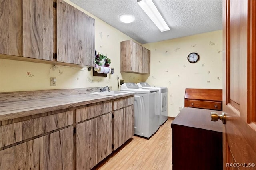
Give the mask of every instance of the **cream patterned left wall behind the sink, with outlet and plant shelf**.
[[(112, 86), (113, 90), (118, 90), (117, 76), (130, 82), (142, 80), (142, 76), (138, 74), (120, 73), (120, 42), (131, 38), (72, 2), (65, 1), (95, 19), (95, 49), (112, 60), (110, 67), (114, 67), (114, 75), (95, 77), (87, 68), (59, 65), (54, 67), (50, 64), (0, 59), (1, 92), (102, 87), (105, 85)], [(56, 77), (56, 86), (50, 86), (50, 77)]]

